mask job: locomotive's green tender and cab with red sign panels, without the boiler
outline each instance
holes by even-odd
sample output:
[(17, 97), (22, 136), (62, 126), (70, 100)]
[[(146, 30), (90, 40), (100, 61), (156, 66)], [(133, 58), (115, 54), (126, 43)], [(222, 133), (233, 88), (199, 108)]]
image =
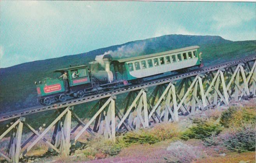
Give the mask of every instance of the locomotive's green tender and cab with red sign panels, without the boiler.
[(64, 102), (69, 96), (83, 97), (86, 93), (86, 88), (91, 87), (88, 66), (86, 65), (57, 69), (54, 72), (60, 73), (60, 75), (67, 72), (67, 89), (65, 89), (66, 83), (62, 78), (45, 78), (42, 82), (35, 82), (37, 97), (43, 105), (50, 105), (55, 101)]

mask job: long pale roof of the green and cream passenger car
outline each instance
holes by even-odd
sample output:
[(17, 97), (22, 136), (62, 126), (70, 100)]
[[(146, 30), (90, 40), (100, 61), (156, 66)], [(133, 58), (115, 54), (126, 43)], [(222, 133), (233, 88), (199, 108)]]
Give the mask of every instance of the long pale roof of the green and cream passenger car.
[(128, 62), (128, 61), (134, 61), (138, 59), (144, 59), (148, 57), (157, 57), (160, 55), (166, 55), (166, 54), (172, 54), (172, 53), (177, 53), (177, 52), (183, 52), (186, 50), (193, 50), (193, 49), (198, 49), (200, 48), (199, 46), (190, 46), (190, 47), (185, 47), (185, 48), (180, 48), (180, 49), (174, 49), (174, 50), (168, 50), (165, 52), (160, 52), (160, 53), (155, 53), (155, 54), (147, 54), (147, 55), (140, 55), (138, 57), (129, 57), (129, 58), (123, 58), (123, 59), (114, 59), (112, 61), (118, 61), (118, 62)]

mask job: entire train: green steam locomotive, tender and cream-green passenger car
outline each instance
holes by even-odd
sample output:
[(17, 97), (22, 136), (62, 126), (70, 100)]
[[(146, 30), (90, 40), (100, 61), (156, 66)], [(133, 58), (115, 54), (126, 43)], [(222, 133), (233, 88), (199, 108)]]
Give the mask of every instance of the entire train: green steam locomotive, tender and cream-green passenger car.
[[(87, 65), (57, 69), (54, 72), (68, 75), (68, 90), (62, 79), (44, 79), (37, 87), (37, 97), (41, 104), (50, 105), (64, 102), (69, 98), (81, 98), (101, 91), (125, 87), (151, 76), (193, 66), (203, 66), (199, 46), (169, 50), (157, 54), (141, 55), (124, 59), (113, 59), (110, 54), (97, 55), (95, 61)], [(76, 78), (72, 78), (75, 72)]]

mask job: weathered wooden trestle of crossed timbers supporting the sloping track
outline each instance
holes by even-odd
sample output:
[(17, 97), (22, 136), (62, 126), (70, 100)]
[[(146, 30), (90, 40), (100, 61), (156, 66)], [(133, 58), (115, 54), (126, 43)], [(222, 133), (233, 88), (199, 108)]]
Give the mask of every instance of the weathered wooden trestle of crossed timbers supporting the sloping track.
[[(1, 152), (0, 156), (7, 161), (18, 162), (39, 141), (56, 153), (69, 155), (71, 145), (79, 141), (85, 132), (101, 134), (115, 142), (116, 132), (120, 130), (138, 130), (152, 123), (178, 121), (180, 116), (196, 114), (198, 110), (252, 97), (256, 97), (256, 61), (157, 85), (153, 92), (145, 88), (130, 92), (125, 98), (126, 108), (117, 108), (115, 96), (104, 99), (105, 102), (100, 100), (97, 103), (99, 110), (87, 122), (79, 118), (72, 107), (65, 108), (45, 129), (44, 126), (34, 129), (20, 117), (0, 135), (2, 142), (12, 132), (7, 154)], [(78, 125), (71, 128), (73, 121)], [(23, 125), (32, 135), (22, 143)], [(45, 136), (51, 130), (53, 135), (49, 141)]]

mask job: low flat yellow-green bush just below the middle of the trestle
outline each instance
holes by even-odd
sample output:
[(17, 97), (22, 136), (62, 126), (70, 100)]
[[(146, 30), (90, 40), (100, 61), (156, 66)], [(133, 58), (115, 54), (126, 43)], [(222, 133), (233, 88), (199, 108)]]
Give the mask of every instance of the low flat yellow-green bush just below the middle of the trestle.
[(157, 137), (147, 134), (145, 132), (128, 132), (124, 135), (123, 139), (126, 144), (155, 144), (156, 142), (159, 142), (159, 139)]

